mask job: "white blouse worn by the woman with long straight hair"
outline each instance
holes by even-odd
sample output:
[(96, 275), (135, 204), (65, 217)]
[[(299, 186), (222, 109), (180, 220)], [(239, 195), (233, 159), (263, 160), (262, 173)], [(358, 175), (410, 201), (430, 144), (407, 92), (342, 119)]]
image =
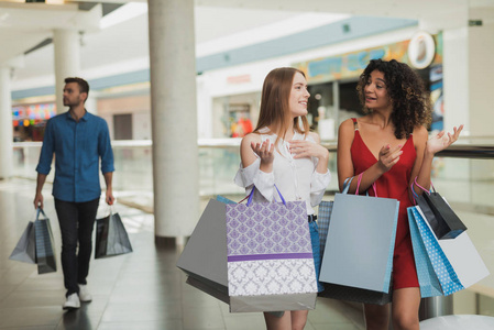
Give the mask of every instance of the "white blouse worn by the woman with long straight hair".
[[(267, 134), (267, 129), (260, 131), (262, 142), (270, 140), (271, 143), (276, 142), (276, 134)], [(263, 132), (266, 132), (263, 134)], [(304, 134), (295, 132), (293, 140), (305, 140)], [(307, 141), (316, 143), (308, 135)], [(245, 188), (245, 194), (252, 191), (255, 186), (253, 201), (268, 202), (281, 201), (278, 193), (274, 185), (279, 189), (283, 197), (287, 201), (305, 200), (307, 205), (307, 215), (314, 215), (312, 207), (319, 205), (325, 195), (326, 187), (331, 180), (329, 169), (325, 174), (316, 172), (317, 157), (305, 157), (294, 160), (289, 152), (289, 143), (279, 139), (277, 147), (274, 151), (273, 172), (265, 173), (260, 169), (261, 158), (255, 154), (257, 160), (248, 167), (240, 168), (237, 172), (234, 182), (237, 185)]]

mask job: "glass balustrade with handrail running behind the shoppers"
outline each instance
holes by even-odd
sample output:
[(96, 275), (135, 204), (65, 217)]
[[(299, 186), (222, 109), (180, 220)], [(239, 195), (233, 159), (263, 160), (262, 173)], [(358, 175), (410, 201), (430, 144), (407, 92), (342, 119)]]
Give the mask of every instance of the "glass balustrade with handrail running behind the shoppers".
[[(14, 143), (14, 175), (36, 178), (40, 142)], [(240, 200), (244, 190), (233, 183), (239, 168), (240, 139), (199, 141), (199, 195), (202, 199), (226, 195)], [(330, 150), (329, 169), (333, 177), (325, 199), (338, 191), (336, 142), (323, 143)], [(432, 164), (432, 184), (468, 227), (468, 233), (494, 274), (494, 139), (461, 139), (454, 147), (439, 154)], [(151, 141), (114, 141), (113, 190), (117, 196), (129, 196), (153, 202), (153, 164)], [(47, 177), (53, 180), (53, 173)], [(105, 180), (101, 177), (101, 185)], [(455, 314), (494, 316), (494, 275), (475, 284), (469, 290), (454, 294)], [(458, 312), (459, 311), (459, 312)]]

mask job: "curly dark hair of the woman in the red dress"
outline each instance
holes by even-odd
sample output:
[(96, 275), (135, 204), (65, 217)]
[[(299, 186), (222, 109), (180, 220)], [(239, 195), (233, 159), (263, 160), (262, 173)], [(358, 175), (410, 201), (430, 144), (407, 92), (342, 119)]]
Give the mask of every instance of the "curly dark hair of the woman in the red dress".
[[(364, 88), (374, 70), (383, 73), (386, 80), (386, 91), (393, 103), (391, 120), (395, 125), (396, 139), (408, 139), (416, 127), (428, 127), (432, 108), (430, 95), (422, 79), (405, 63), (372, 59), (360, 75), (356, 86), (361, 103), (365, 105)], [(371, 111), (365, 106), (363, 110), (365, 113)]]

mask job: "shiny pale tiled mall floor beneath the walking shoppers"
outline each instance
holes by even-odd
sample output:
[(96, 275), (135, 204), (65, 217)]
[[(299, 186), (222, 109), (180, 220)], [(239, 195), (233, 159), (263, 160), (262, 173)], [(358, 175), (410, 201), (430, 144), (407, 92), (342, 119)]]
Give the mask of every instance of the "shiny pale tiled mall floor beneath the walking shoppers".
[[(61, 240), (51, 187), (44, 190), (45, 212), (52, 219), (57, 254)], [(64, 286), (58, 272), (37, 275), (36, 266), (8, 260), (29, 220), (34, 183), (0, 182), (0, 329), (265, 329), (261, 314), (230, 314), (228, 306), (185, 284), (175, 267), (178, 249), (157, 249), (153, 216), (117, 205), (134, 252), (92, 260), (88, 287), (94, 300), (77, 311), (62, 310)], [(100, 215), (108, 212), (101, 207)], [(363, 329), (361, 311), (318, 298), (307, 330)]]

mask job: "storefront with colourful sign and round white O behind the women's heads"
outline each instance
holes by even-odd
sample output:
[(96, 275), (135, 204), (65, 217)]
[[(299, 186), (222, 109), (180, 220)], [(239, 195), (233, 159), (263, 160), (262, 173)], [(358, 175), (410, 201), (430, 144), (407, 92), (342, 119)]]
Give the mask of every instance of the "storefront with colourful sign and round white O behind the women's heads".
[(311, 95), (309, 122), (321, 140), (334, 140), (341, 122), (363, 116), (356, 84), (369, 62), (376, 58), (396, 59), (417, 70), (432, 99), (430, 129), (442, 130), (442, 34), (417, 33), (408, 41), (293, 64), (307, 76)]

